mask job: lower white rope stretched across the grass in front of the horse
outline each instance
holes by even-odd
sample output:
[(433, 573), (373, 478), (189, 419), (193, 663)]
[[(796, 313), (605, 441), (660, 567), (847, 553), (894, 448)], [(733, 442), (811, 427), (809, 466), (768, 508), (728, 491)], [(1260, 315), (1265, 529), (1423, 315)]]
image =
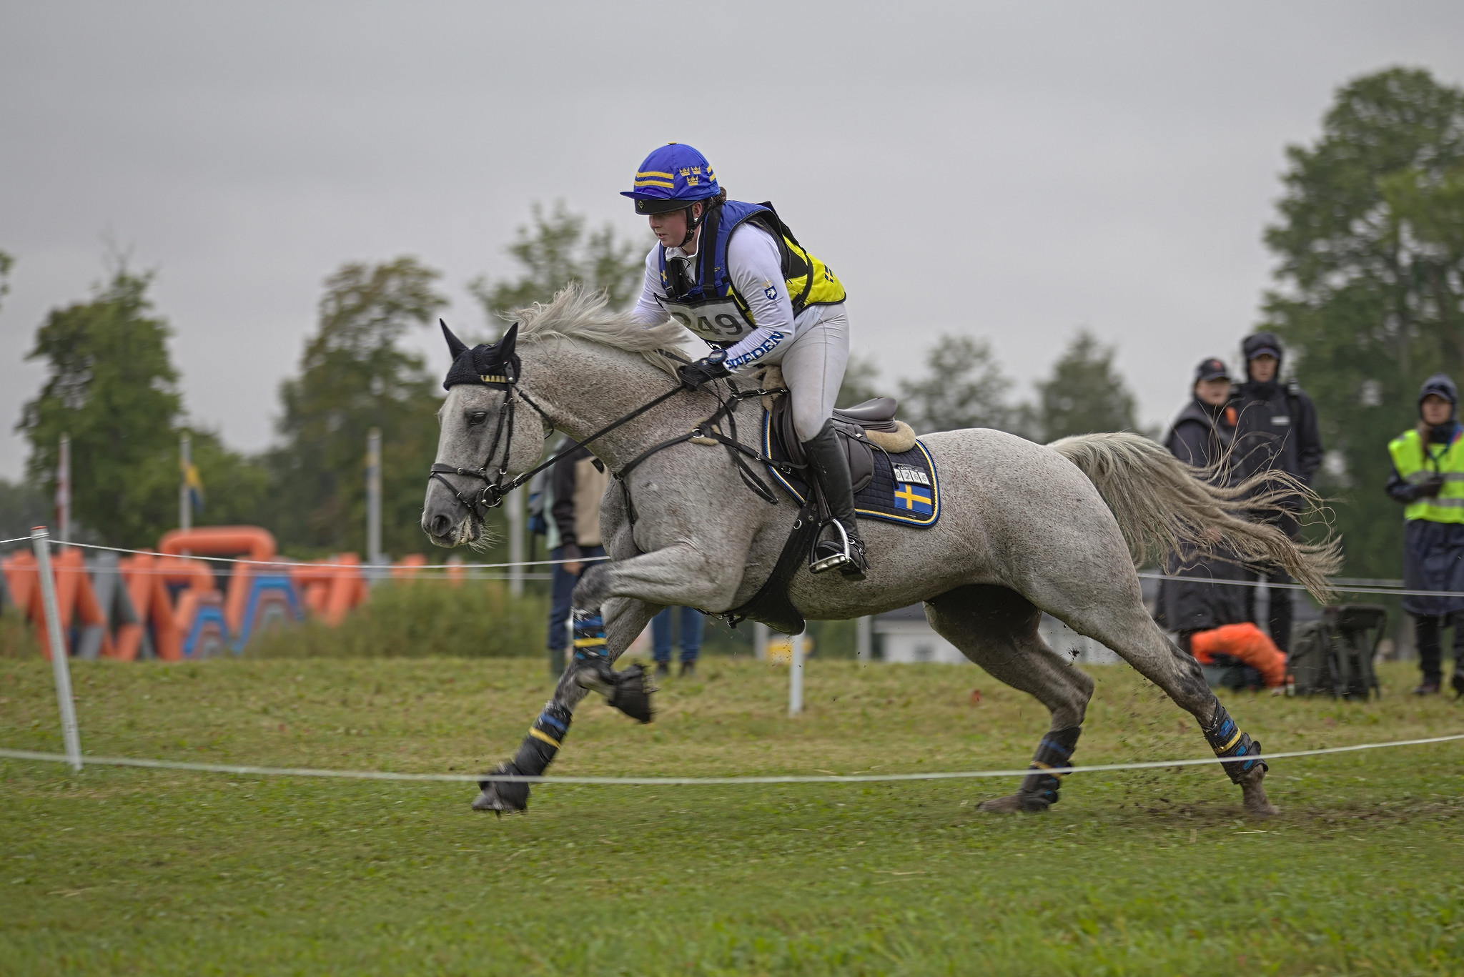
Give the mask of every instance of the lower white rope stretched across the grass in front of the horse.
[[(1391, 747), (1427, 746), (1454, 743), (1464, 734), (1427, 737), (1422, 740), (1392, 740), (1389, 743), (1359, 743), (1347, 747), (1323, 750), (1290, 750), (1265, 753), (1263, 760), (1326, 756), (1332, 753), (1356, 753), (1359, 750), (1385, 750)], [(35, 753), (32, 750), (0, 750), (0, 757), (9, 760), (35, 760), (42, 763), (66, 763), (61, 753)], [(1190, 760), (1143, 760), (1135, 763), (1095, 763), (1091, 766), (1063, 766), (1047, 773), (1107, 773), (1114, 770), (1157, 770), (1176, 766), (1208, 766), (1211, 763), (1244, 763), (1253, 756), (1200, 757)], [(354, 781), (426, 781), (448, 784), (479, 784), (485, 781), (502, 784), (584, 784), (596, 787), (741, 787), (752, 784), (880, 784), (899, 781), (965, 781), (991, 776), (1026, 776), (1029, 768), (1013, 770), (952, 770), (930, 773), (830, 773), (824, 776), (520, 776), (511, 773), (394, 773), (391, 770), (326, 770), (305, 766), (250, 766), (234, 763), (189, 763), (186, 760), (148, 760), (142, 757), (85, 756), (89, 766), (133, 766), (157, 770), (195, 770), (202, 773), (236, 773), (240, 776), (318, 776)]]

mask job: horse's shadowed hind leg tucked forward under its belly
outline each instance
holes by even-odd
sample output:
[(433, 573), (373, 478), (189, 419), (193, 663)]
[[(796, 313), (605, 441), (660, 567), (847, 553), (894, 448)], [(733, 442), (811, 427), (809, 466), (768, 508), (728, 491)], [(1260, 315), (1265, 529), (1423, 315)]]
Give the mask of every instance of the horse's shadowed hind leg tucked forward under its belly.
[(985, 811), (1044, 811), (1057, 803), (1060, 775), (1072, 763), (1094, 680), (1047, 647), (1037, 633), (1042, 612), (1031, 601), (997, 586), (957, 587), (927, 602), (925, 617), (962, 653), (993, 677), (1034, 696), (1053, 713), (1032, 757), (1034, 770), (1016, 794), (984, 801)]

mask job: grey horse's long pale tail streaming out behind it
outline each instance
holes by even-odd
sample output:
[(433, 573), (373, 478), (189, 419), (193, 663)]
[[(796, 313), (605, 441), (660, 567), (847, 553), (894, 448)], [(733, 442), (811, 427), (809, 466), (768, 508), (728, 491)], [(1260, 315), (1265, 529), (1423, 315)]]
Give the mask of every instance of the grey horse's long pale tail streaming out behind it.
[(1225, 552), (1240, 562), (1280, 565), (1312, 595), (1331, 596), (1326, 577), (1341, 567), (1341, 545), (1296, 543), (1258, 516), (1290, 511), (1300, 497), (1303, 516), (1322, 511), (1321, 498), (1284, 472), (1263, 472), (1233, 488), (1206, 480), (1214, 472), (1192, 469), (1154, 441), (1136, 434), (1085, 434), (1048, 445), (1082, 469), (1118, 520), (1136, 565), (1180, 551)]

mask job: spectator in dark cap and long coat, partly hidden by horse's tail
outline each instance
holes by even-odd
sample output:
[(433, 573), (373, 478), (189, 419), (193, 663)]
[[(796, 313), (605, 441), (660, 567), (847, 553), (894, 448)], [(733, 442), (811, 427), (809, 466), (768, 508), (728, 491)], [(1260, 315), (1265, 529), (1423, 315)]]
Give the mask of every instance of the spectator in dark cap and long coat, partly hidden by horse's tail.
[[(1228, 406), (1230, 371), (1218, 359), (1200, 360), (1195, 368), (1190, 403), (1180, 410), (1164, 447), (1180, 461), (1205, 469), (1222, 485), (1230, 483), (1227, 464), (1236, 438), (1236, 409)], [(1170, 557), (1165, 573), (1171, 577), (1193, 577), (1195, 583), (1164, 580), (1159, 584), (1159, 620), (1179, 631), (1179, 643), (1195, 653), (1190, 639), (1199, 631), (1211, 631), (1227, 624), (1246, 621), (1246, 587), (1211, 583), (1211, 580), (1244, 580), (1246, 570), (1225, 552), (1186, 552)], [(1233, 672), (1239, 662), (1215, 655), (1206, 661), (1206, 678), (1217, 684), (1233, 677), (1244, 684), (1249, 675)]]

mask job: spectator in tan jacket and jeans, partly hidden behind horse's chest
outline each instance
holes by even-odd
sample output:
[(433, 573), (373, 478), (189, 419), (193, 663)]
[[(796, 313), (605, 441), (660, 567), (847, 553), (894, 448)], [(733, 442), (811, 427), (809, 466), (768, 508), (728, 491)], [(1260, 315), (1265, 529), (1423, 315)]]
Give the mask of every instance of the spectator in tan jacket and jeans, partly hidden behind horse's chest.
[(580, 448), (553, 463), (549, 475), (546, 508), (548, 546), (553, 564), (549, 602), (549, 671), (559, 675), (565, 666), (564, 649), (569, 643), (567, 623), (574, 584), (584, 573), (584, 560), (605, 555), (600, 540), (600, 497), (610, 476), (589, 448)]

